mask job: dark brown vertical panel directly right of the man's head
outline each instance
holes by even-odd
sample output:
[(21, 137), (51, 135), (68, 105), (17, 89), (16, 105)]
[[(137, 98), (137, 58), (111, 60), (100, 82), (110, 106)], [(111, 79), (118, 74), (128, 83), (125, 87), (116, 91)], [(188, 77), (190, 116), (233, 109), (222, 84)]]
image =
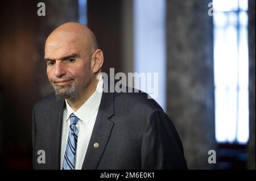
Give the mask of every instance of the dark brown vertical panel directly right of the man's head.
[(88, 0), (88, 27), (104, 52), (102, 71), (122, 71), (122, 1)]

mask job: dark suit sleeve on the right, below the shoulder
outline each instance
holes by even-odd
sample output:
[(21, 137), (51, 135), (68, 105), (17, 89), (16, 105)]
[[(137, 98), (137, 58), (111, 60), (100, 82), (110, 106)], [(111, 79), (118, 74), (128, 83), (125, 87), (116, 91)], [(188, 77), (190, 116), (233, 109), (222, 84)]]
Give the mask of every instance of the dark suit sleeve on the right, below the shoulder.
[(155, 110), (147, 117), (141, 169), (188, 169), (179, 134), (162, 110)]

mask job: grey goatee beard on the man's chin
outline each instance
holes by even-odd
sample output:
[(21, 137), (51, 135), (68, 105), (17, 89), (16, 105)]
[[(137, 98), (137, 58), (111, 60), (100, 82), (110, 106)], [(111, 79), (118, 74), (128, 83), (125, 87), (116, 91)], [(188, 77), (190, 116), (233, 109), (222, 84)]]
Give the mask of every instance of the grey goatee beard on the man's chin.
[(54, 89), (57, 100), (72, 99), (77, 95), (77, 88), (75, 86), (55, 86)]

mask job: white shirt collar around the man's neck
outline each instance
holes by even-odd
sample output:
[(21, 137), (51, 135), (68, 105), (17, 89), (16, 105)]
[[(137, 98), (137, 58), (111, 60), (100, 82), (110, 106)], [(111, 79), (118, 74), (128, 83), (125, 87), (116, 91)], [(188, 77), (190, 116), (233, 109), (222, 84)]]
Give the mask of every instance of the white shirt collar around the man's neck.
[(76, 112), (69, 106), (67, 100), (65, 99), (67, 114), (65, 121), (68, 121), (69, 116), (74, 113), (81, 121), (89, 121), (93, 116), (94, 112), (98, 110), (100, 107), (101, 96), (103, 91), (103, 80), (102, 75), (100, 75), (100, 79), (98, 81), (96, 90), (90, 96), (88, 100), (77, 110)]

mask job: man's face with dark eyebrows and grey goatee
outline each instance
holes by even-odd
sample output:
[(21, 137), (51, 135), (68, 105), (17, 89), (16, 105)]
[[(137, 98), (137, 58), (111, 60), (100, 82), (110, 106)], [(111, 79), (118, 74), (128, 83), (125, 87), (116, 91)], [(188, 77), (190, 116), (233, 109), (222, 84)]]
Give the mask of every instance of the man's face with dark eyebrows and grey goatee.
[(93, 75), (90, 51), (66, 37), (51, 37), (45, 47), (47, 75), (58, 99), (75, 98), (86, 91)]

